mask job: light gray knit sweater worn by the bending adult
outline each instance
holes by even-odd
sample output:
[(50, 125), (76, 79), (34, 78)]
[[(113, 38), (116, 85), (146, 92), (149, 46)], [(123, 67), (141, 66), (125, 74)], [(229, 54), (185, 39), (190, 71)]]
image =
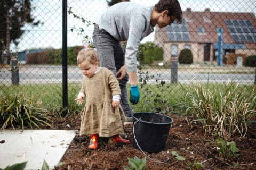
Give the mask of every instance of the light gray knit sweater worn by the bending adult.
[(152, 11), (152, 6), (121, 2), (108, 8), (98, 19), (100, 29), (104, 29), (118, 41), (127, 40), (125, 64), (129, 72), (137, 69), (136, 55), (140, 41), (154, 31), (155, 25), (150, 24)]

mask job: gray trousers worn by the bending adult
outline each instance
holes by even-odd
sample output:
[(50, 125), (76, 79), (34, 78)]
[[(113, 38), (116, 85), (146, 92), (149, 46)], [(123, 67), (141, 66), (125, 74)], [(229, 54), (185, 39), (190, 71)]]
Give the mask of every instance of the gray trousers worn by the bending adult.
[[(105, 30), (100, 30), (98, 25), (95, 25), (93, 30), (93, 43), (100, 56), (100, 66), (108, 68), (115, 74), (115, 77), (117, 77), (117, 71), (124, 65), (124, 52), (120, 42)], [(120, 104), (124, 114), (131, 116), (133, 112), (128, 102), (126, 89), (128, 80), (129, 77), (127, 73), (122, 80), (119, 80), (122, 93)]]

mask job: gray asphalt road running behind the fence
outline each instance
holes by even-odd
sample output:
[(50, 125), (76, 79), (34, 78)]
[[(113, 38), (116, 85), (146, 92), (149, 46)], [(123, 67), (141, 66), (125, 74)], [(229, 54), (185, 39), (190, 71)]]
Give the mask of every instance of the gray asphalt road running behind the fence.
[[(255, 74), (230, 74), (230, 73), (198, 73), (193, 70), (178, 70), (178, 82), (227, 82), (233, 81), (243, 84), (253, 84), (255, 81)], [(171, 82), (170, 69), (154, 69), (149, 70), (148, 73), (144, 71), (138, 74), (138, 77), (147, 79), (148, 83), (154, 83), (156, 80)], [(0, 68), (0, 84), (10, 84), (12, 79), (12, 72), (10, 68)], [(68, 82), (81, 82), (82, 73), (78, 67), (68, 67)], [(40, 83), (61, 83), (62, 82), (62, 67), (61, 66), (26, 66), (19, 69), (19, 83), (20, 84), (40, 84)]]

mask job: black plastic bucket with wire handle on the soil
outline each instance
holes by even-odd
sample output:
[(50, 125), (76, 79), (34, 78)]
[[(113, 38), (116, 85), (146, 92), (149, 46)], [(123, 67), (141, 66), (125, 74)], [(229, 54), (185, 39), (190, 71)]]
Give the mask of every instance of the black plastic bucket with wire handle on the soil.
[(133, 147), (139, 150), (141, 148), (149, 153), (162, 151), (166, 146), (169, 130), (173, 123), (172, 118), (151, 112), (137, 112), (132, 117)]

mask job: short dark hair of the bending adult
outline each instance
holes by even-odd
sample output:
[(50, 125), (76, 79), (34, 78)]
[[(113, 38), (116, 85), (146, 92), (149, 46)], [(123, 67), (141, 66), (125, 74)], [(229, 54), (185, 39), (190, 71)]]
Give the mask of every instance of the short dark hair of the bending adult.
[(168, 10), (168, 16), (175, 16), (177, 23), (182, 22), (182, 10), (178, 0), (160, 0), (155, 5), (155, 9), (159, 13)]

